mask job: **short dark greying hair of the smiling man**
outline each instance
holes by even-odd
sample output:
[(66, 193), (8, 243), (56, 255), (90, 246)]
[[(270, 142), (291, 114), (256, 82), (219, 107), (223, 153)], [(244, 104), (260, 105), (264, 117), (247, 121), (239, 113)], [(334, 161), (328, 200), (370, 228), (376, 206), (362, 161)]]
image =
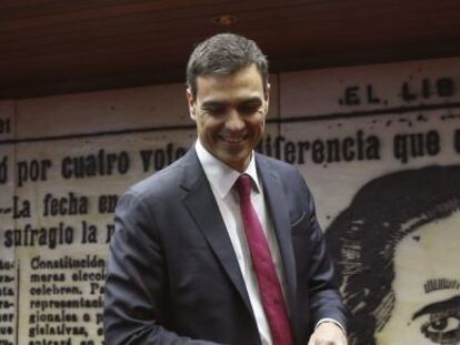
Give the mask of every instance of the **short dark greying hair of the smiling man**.
[(254, 41), (233, 33), (219, 33), (199, 43), (187, 63), (187, 87), (197, 95), (197, 77), (231, 75), (256, 64), (268, 85), (268, 61)]

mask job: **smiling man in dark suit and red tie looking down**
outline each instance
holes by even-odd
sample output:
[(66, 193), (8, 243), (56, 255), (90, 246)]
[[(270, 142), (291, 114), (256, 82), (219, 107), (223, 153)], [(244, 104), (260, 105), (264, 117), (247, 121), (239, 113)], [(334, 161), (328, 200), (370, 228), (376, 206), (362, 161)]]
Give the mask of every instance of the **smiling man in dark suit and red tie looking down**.
[(194, 49), (187, 81), (194, 148), (116, 211), (106, 344), (346, 345), (312, 196), (296, 169), (253, 152), (266, 58), (218, 34)]

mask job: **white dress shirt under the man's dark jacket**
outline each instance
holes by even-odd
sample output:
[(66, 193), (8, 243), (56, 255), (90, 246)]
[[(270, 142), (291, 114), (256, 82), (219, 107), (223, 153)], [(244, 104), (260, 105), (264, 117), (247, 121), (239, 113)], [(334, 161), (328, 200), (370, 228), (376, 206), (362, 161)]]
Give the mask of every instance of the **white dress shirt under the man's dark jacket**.
[[(211, 185), (211, 190), (219, 206), (220, 214), (222, 215), (223, 222), (229, 233), (229, 237), (233, 246), (242, 277), (244, 280), (246, 288), (248, 291), (249, 301), (251, 303), (252, 312), (256, 317), (256, 323), (260, 337), (262, 339), (262, 345), (271, 345), (272, 339), (270, 327), (266, 317), (266, 313), (263, 312), (259, 284), (257, 282), (256, 272), (252, 267), (251, 254), (248, 247), (244, 227), (241, 220), (239, 195), (238, 191), (233, 189), (237, 179), (242, 173), (214, 158), (203, 148), (199, 140), (196, 143), (196, 151), (198, 159), (204, 170), (204, 174), (208, 177), (209, 184)], [(263, 199), (263, 186), (261, 185), (261, 182), (259, 181), (257, 174), (254, 154), (252, 154), (249, 166), (243, 173), (248, 174), (252, 180), (251, 202), (266, 233), (278, 280), (280, 281), (281, 290), (284, 294), (286, 282), (283, 278), (284, 274), (281, 255), (270, 219), (270, 213)]]

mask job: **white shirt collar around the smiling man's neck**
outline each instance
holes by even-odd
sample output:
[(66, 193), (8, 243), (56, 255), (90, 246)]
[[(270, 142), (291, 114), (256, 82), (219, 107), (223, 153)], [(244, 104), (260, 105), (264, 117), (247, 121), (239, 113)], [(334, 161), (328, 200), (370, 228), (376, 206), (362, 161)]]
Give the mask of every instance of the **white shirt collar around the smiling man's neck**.
[[(204, 149), (199, 139), (197, 140), (194, 149), (197, 151), (198, 160), (200, 161), (212, 189), (219, 194), (220, 197), (226, 197), (234, 182), (237, 182), (238, 177), (242, 173), (213, 156), (208, 150)], [(257, 175), (253, 151), (249, 165), (243, 173), (251, 177), (253, 185), (256, 185), (257, 192), (260, 192), (260, 183)]]

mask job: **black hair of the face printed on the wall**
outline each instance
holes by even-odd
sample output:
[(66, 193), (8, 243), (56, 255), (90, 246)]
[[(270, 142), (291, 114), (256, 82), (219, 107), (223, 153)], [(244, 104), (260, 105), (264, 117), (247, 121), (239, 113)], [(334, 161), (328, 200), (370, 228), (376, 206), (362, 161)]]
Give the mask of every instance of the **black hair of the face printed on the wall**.
[(363, 185), (326, 231), (350, 345), (374, 345), (393, 312), (394, 251), (423, 224), (460, 211), (460, 165), (388, 174)]

